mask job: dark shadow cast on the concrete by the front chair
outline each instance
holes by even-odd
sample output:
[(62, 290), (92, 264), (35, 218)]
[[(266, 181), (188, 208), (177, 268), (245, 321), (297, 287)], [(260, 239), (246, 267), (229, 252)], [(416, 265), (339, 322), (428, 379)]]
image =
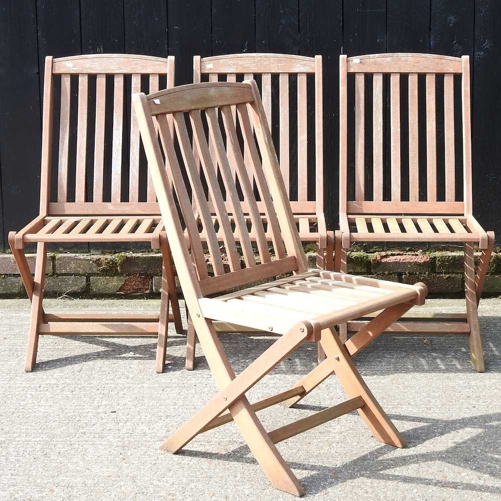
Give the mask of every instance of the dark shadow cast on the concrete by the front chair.
[[(316, 408), (316, 406), (313, 407)], [(394, 421), (421, 423), (405, 431), (404, 436), (408, 440), (408, 447), (406, 449), (401, 449), (403, 453), (391, 455), (392, 451), (400, 449), (394, 449), (389, 445), (382, 445), (371, 452), (362, 454), (339, 466), (288, 461), (289, 466), (293, 470), (298, 469), (308, 472), (306, 476), (300, 478), (307, 495), (317, 494), (343, 482), (367, 478), (370, 480), (404, 482), (420, 486), (452, 489), (460, 488), (463, 491), (487, 492), (490, 494), (499, 494), (501, 496), (501, 487), (492, 485), (472, 483), (467, 480), (454, 481), (391, 472), (392, 469), (398, 467), (408, 467), (412, 464), (422, 464), (427, 461), (440, 461), (470, 470), (475, 474), (481, 473), (489, 475), (496, 480), (501, 479), (501, 467), (499, 466), (498, 458), (499, 452), (497, 449), (494, 449), (496, 444), (501, 441), (501, 413), (470, 416), (450, 421), (398, 414), (390, 415), (390, 418)], [(431, 452), (425, 451), (414, 453), (412, 450), (427, 441), (443, 437), (449, 433), (457, 434), (457, 432), (465, 430), (466, 428), (481, 429), (481, 432), (475, 434), (474, 437), (462, 441), (457, 441), (456, 439), (454, 441), (448, 441), (448, 443), (452, 444), (440, 451), (433, 450)], [(407, 450), (409, 453), (405, 453)], [(473, 454), (472, 451), (478, 451), (478, 453)], [(256, 464), (256, 460), (250, 454), (246, 445), (237, 447), (227, 453), (201, 452), (183, 449), (180, 454), (210, 460)]]

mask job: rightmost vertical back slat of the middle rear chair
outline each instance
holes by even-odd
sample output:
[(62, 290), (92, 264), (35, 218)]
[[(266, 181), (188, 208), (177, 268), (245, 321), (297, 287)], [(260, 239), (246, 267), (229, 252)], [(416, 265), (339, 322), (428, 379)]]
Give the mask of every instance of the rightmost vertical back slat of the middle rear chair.
[(306, 73), (298, 73), (298, 200), (308, 200), (308, 103)]

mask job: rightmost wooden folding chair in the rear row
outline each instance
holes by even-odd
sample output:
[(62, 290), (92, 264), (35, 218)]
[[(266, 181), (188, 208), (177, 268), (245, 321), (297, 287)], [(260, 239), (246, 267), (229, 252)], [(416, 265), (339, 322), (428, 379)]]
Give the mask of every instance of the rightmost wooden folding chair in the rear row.
[[(354, 117), (348, 113), (352, 86)], [(473, 366), (483, 372), (477, 306), (494, 233), (484, 231), (472, 214), (469, 89), (468, 56), (340, 57), (340, 231), (336, 233), (335, 269), (346, 271), (346, 249), (351, 242), (462, 242), (466, 314), (409, 319), (388, 331), (468, 335)], [(461, 96), (460, 103), (456, 104), (454, 95)], [(385, 96), (389, 96), (386, 123)], [(370, 115), (372, 123), (366, 120)], [(461, 129), (454, 126), (458, 120)], [(349, 130), (349, 123), (354, 130)], [(408, 138), (401, 134), (401, 125)], [(348, 146), (349, 134), (354, 137), (354, 151)], [(420, 158), (420, 141), (426, 143), (426, 158)], [(481, 249), (476, 276), (474, 244)], [(348, 330), (351, 327), (357, 329), (360, 323), (348, 324)], [(341, 335), (342, 339), (346, 336), (346, 326)]]

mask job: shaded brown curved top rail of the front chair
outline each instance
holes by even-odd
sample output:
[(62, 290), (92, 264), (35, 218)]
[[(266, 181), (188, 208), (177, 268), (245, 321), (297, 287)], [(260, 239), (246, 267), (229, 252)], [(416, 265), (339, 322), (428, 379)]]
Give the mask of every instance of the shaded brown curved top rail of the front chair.
[(250, 85), (237, 82), (180, 85), (150, 94), (146, 99), (153, 116), (254, 101)]

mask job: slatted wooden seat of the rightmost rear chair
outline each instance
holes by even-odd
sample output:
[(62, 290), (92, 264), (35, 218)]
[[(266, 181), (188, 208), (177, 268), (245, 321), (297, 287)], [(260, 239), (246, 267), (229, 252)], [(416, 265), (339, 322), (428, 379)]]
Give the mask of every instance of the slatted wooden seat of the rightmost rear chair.
[(487, 235), (471, 216), (348, 214), (352, 241), (476, 242)]

